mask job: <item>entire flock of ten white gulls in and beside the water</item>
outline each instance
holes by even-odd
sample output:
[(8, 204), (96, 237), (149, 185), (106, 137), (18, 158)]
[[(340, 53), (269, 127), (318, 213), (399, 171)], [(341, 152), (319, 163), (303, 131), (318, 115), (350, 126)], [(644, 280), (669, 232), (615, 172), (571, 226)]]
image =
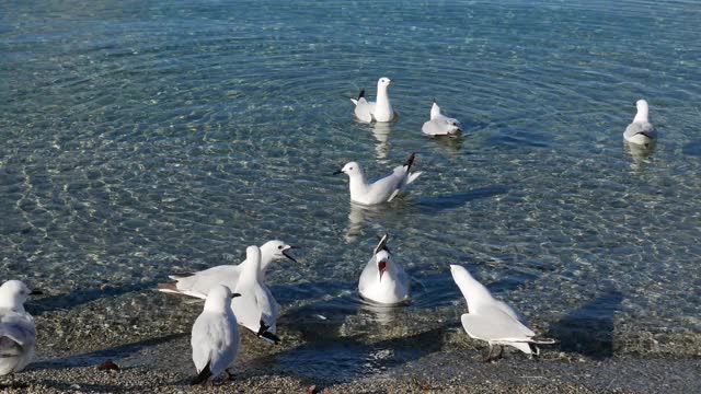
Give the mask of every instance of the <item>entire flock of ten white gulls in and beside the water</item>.
[[(397, 117), (392, 109), (388, 89), (389, 78), (377, 83), (377, 102), (365, 99), (361, 91), (355, 104), (355, 117), (365, 123), (387, 123)], [(625, 141), (648, 147), (655, 139), (655, 129), (648, 120), (647, 102), (636, 103), (637, 113), (625, 128)], [(455, 137), (463, 131), (455, 118), (440, 113), (435, 102), (430, 119), (422, 127), (423, 134), (432, 137)], [(348, 175), (350, 200), (371, 206), (392, 201), (421, 172), (412, 172), (415, 154), (388, 175), (368, 182), (360, 164), (346, 163), (335, 174)], [(394, 259), (388, 247), (389, 234), (384, 234), (372, 251), (372, 256), (363, 269), (358, 281), (358, 293), (368, 302), (382, 305), (401, 305), (410, 300), (410, 277)], [(248, 328), (262, 340), (278, 344), (277, 315), (280, 305), (265, 285), (265, 273), (271, 264), (284, 258), (296, 259), (289, 254), (294, 246), (283, 241), (268, 241), (258, 246), (246, 247), (245, 260), (239, 265), (221, 265), (198, 273), (172, 275), (172, 282), (160, 283), (158, 290), (197, 299), (204, 299), (203, 312), (192, 328), (192, 357), (197, 375), (193, 384), (211, 383), (212, 379), (227, 373), (240, 351), (239, 325)], [(502, 356), (504, 346), (514, 347), (526, 355), (539, 355), (538, 345), (554, 344), (551, 338), (541, 338), (531, 331), (526, 321), (512, 306), (494, 299), (490, 291), (475, 280), (462, 266), (450, 265), (452, 278), (462, 292), (468, 313), (461, 316), (462, 327), (474, 339), (489, 344), (485, 361)], [(0, 375), (19, 372), (34, 356), (36, 327), (34, 318), (24, 310), (24, 302), (32, 292), (19, 280), (8, 280), (0, 286)], [(499, 347), (494, 355), (495, 347)]]

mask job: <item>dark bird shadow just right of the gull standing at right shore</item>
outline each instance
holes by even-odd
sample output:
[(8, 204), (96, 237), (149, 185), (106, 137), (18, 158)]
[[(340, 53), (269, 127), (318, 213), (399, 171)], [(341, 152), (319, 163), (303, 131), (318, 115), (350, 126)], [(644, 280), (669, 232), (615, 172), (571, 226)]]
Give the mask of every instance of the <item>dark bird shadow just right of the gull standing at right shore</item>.
[(545, 337), (560, 340), (560, 349), (594, 359), (613, 356), (613, 317), (623, 296), (609, 290), (594, 301), (570, 312), (550, 327)]

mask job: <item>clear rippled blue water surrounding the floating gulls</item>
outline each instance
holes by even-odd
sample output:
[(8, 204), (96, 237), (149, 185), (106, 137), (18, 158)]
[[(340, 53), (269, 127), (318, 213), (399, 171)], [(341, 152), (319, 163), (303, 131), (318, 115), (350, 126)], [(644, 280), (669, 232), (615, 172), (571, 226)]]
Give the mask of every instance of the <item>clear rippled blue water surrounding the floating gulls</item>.
[[(280, 239), (302, 263), (271, 273), (280, 303), (371, 337), (355, 288), (387, 231), (417, 281), (398, 329), (455, 326), (455, 263), (539, 327), (701, 329), (694, 2), (0, 4), (3, 278), (146, 288)], [(355, 123), (381, 76), (399, 120)], [(461, 139), (422, 136), (434, 97)], [(641, 97), (648, 155), (622, 142)], [(331, 176), (410, 152), (424, 175), (389, 206)]]

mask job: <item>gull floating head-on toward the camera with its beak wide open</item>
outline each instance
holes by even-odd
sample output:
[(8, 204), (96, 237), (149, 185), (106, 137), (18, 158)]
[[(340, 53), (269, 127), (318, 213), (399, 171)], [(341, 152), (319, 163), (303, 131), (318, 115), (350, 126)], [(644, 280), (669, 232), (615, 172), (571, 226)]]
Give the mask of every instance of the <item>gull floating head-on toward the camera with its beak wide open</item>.
[(366, 300), (381, 304), (398, 304), (409, 300), (409, 275), (394, 262), (387, 247), (389, 234), (380, 239), (372, 257), (363, 269), (358, 292)]

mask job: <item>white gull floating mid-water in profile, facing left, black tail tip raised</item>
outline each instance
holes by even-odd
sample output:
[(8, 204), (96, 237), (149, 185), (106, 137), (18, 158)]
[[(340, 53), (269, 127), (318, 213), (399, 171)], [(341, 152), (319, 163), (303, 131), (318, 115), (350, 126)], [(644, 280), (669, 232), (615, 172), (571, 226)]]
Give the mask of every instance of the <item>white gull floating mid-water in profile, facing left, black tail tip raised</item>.
[(343, 169), (334, 172), (334, 175), (346, 173), (350, 178), (350, 200), (361, 205), (370, 206), (391, 201), (406, 185), (416, 181), (421, 172), (411, 173), (415, 153), (412, 153), (404, 164), (371, 183), (368, 183), (363, 173), (360, 164), (356, 162), (346, 163)]

